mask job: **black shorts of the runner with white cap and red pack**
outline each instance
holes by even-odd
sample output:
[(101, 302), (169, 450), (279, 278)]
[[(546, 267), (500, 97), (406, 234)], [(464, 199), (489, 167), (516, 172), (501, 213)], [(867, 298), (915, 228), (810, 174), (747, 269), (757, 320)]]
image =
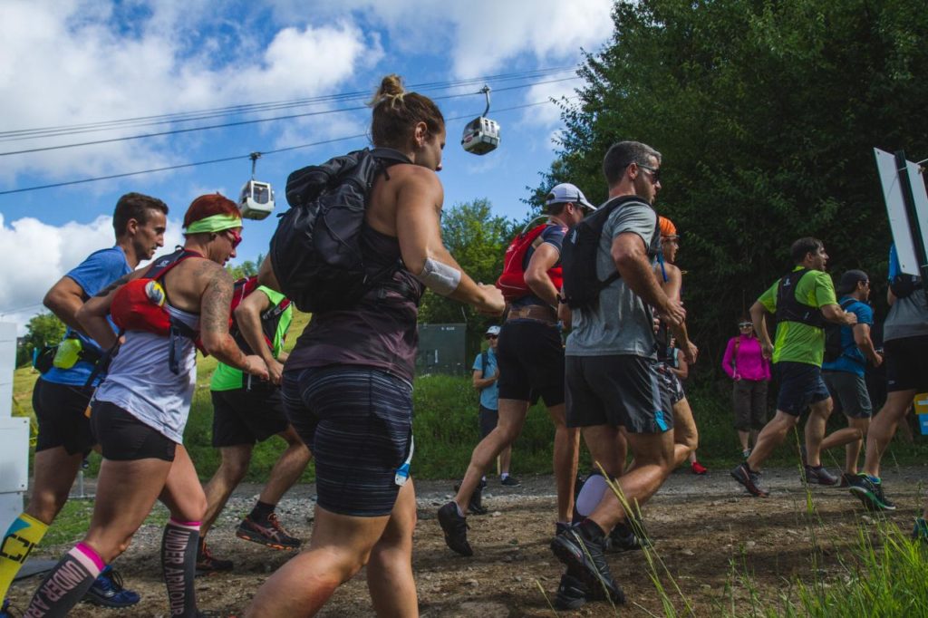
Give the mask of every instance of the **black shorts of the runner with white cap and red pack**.
[(503, 324), (496, 346), (499, 398), (564, 403), (564, 346), (561, 331), (537, 320), (511, 320)]

